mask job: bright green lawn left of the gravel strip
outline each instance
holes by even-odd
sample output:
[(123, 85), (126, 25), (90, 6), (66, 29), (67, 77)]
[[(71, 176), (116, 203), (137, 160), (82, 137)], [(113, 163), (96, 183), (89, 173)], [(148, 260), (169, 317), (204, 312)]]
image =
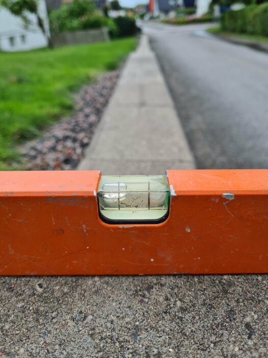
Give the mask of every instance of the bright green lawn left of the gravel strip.
[(73, 108), (71, 93), (115, 69), (135, 38), (54, 50), (0, 53), (0, 170), (18, 158), (16, 145)]

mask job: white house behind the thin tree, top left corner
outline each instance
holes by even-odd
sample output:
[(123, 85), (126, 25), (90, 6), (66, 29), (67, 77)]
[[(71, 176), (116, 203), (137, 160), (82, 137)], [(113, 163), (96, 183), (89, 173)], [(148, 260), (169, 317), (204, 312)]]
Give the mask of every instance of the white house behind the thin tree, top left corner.
[[(38, 12), (49, 34), (45, 0), (39, 0)], [(31, 25), (26, 29), (20, 17), (0, 7), (0, 51), (27, 51), (47, 46), (47, 39), (37, 26), (36, 16), (29, 14), (28, 18)]]

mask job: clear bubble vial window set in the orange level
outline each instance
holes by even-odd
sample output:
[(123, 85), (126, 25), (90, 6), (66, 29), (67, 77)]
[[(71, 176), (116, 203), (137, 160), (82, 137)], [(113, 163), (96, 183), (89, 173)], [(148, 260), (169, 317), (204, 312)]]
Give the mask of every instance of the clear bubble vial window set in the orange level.
[(102, 175), (97, 196), (105, 222), (157, 223), (168, 215), (165, 175)]

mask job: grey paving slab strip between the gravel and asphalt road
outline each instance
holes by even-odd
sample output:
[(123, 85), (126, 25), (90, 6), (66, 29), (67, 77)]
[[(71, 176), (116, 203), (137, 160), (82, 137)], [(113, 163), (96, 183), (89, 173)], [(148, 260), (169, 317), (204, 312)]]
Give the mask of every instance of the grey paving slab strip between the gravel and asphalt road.
[(194, 160), (148, 38), (142, 36), (78, 169), (163, 174)]

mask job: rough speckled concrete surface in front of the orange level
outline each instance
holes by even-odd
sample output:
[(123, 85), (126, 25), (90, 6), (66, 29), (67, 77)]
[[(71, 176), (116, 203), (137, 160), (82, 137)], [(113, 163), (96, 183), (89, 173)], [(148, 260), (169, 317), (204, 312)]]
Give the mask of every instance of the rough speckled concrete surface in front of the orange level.
[(267, 356), (267, 276), (1, 277), (1, 357)]

